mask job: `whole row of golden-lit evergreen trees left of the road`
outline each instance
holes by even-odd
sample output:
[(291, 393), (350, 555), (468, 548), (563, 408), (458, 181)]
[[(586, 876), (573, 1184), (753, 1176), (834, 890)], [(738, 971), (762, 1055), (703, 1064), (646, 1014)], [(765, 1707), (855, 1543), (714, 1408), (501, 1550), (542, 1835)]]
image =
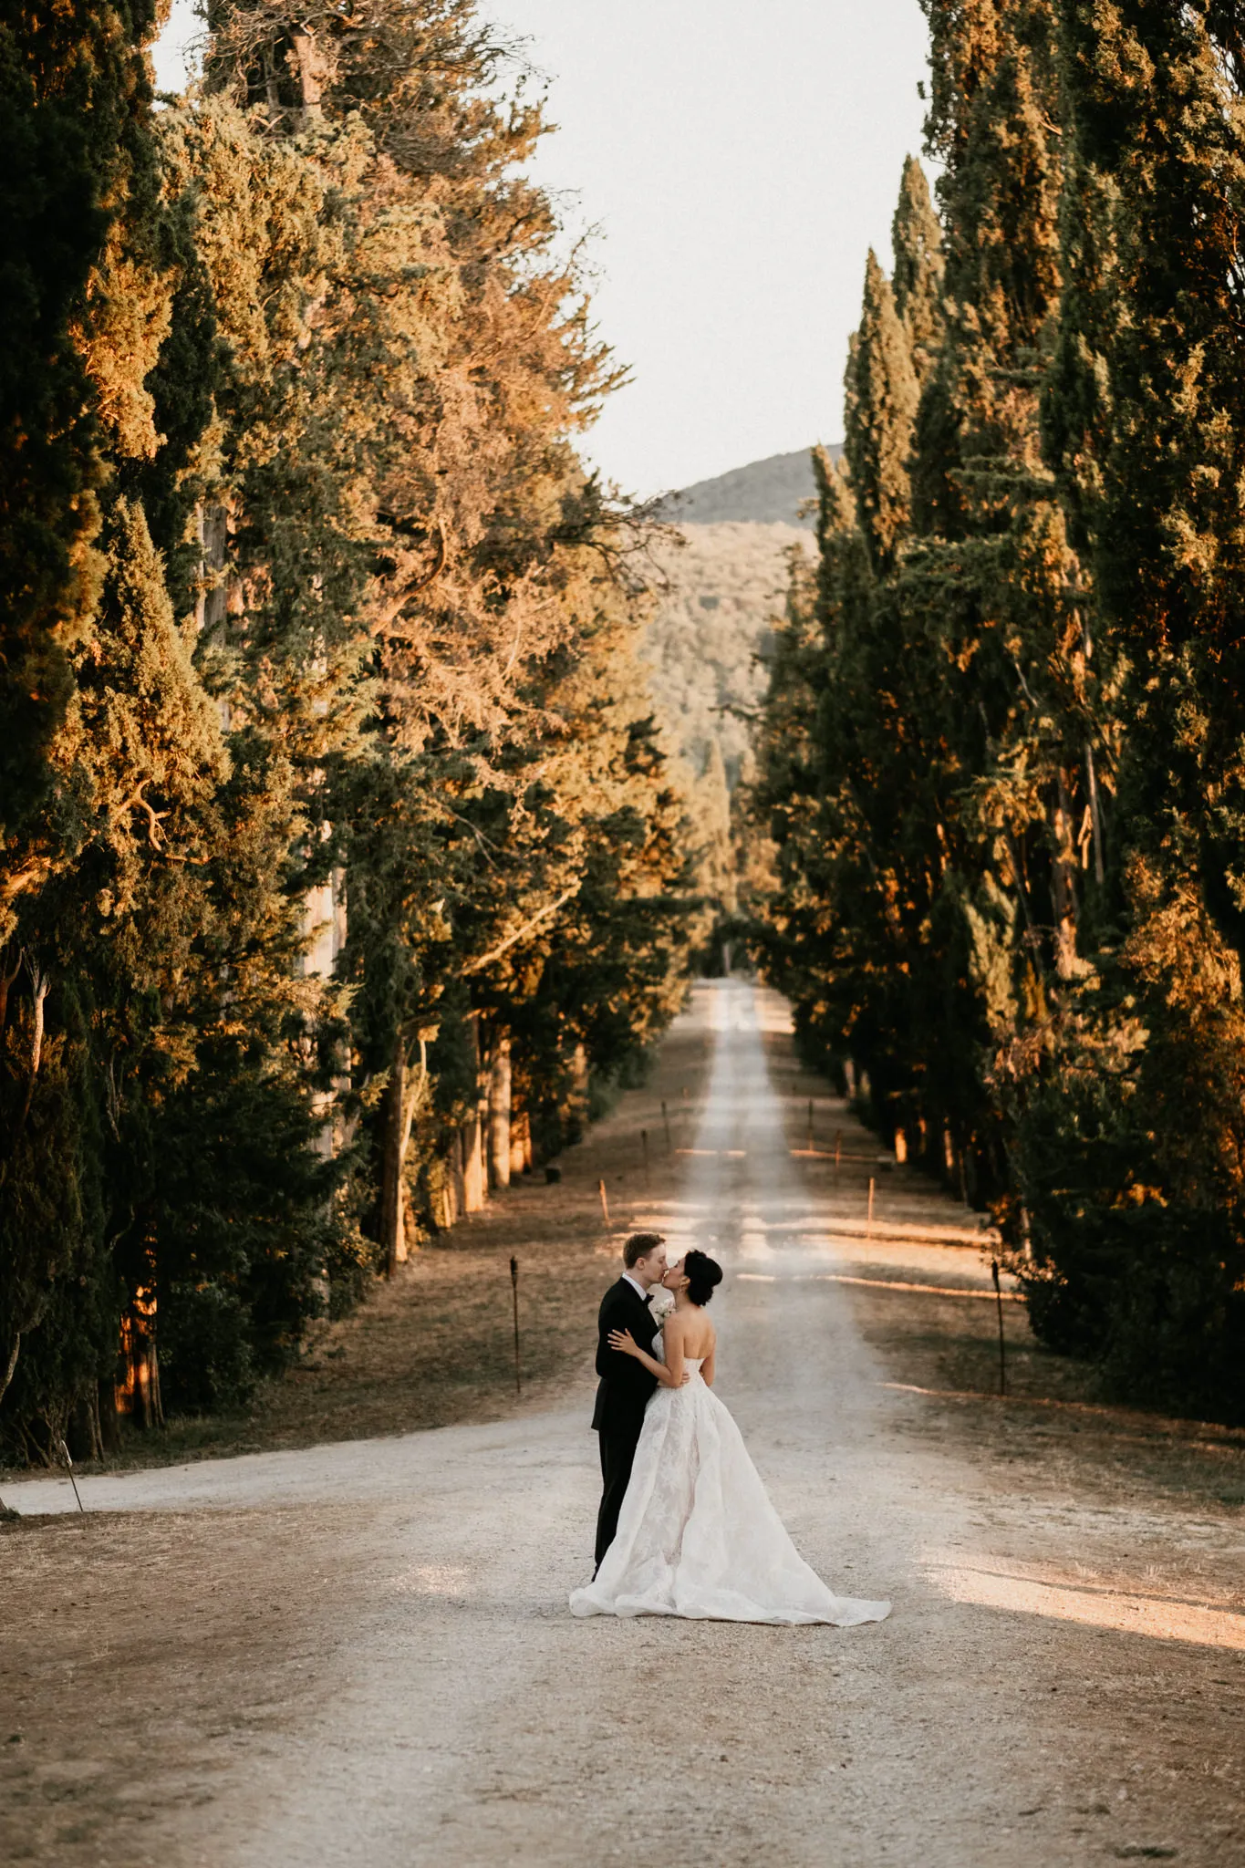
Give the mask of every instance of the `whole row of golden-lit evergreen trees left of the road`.
[[(467, 0), (0, 32), (0, 1435), (245, 1399), (681, 994), (609, 392)], [(63, 26), (63, 32), (62, 32)], [(49, 204), (56, 213), (49, 211)], [(510, 1125), (513, 1119), (513, 1147)], [(500, 1138), (500, 1139), (498, 1139)]]

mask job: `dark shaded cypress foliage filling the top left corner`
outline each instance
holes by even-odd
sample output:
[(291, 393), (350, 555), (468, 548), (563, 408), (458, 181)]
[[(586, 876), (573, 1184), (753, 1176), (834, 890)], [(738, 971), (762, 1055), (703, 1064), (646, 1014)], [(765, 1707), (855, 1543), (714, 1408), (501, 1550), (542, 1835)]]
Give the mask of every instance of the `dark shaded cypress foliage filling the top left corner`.
[(65, 861), (49, 745), (97, 594), (97, 411), (75, 344), (91, 269), (142, 159), (153, 6), (17, 6), (0, 24), (0, 940)]

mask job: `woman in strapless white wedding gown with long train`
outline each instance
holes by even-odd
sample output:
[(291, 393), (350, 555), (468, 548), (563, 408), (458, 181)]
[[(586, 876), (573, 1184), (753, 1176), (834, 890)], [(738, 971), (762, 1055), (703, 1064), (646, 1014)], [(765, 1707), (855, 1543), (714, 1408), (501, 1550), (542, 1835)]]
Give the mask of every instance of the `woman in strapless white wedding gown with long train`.
[(674, 1309), (655, 1352), (640, 1349), (629, 1330), (610, 1334), (610, 1349), (642, 1362), (657, 1390), (618, 1534), (588, 1588), (571, 1595), (571, 1614), (881, 1621), (890, 1603), (834, 1595), (803, 1560), (713, 1394), (717, 1332), (706, 1304), (720, 1280), (711, 1257), (689, 1252), (661, 1280), (674, 1291)]

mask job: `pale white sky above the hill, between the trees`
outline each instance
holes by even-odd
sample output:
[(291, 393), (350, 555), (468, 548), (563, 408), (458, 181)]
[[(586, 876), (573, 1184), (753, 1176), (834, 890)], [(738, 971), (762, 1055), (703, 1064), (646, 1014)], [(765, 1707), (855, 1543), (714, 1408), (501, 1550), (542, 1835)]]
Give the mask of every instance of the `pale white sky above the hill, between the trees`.
[[(870, 245), (920, 153), (918, 0), (483, 0), (549, 80), (538, 179), (627, 362), (586, 452), (650, 495), (842, 437)], [(192, 0), (157, 80), (181, 84)]]

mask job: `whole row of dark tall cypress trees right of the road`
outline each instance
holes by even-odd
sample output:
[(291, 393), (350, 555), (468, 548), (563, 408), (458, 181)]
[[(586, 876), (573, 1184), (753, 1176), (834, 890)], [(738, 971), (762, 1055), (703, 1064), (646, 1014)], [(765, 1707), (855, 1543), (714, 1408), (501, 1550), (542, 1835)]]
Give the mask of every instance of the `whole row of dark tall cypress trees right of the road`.
[(941, 250), (909, 163), (771, 665), (762, 943), (1042, 1337), (1241, 1420), (1245, 49), (1210, 4), (926, 11)]

